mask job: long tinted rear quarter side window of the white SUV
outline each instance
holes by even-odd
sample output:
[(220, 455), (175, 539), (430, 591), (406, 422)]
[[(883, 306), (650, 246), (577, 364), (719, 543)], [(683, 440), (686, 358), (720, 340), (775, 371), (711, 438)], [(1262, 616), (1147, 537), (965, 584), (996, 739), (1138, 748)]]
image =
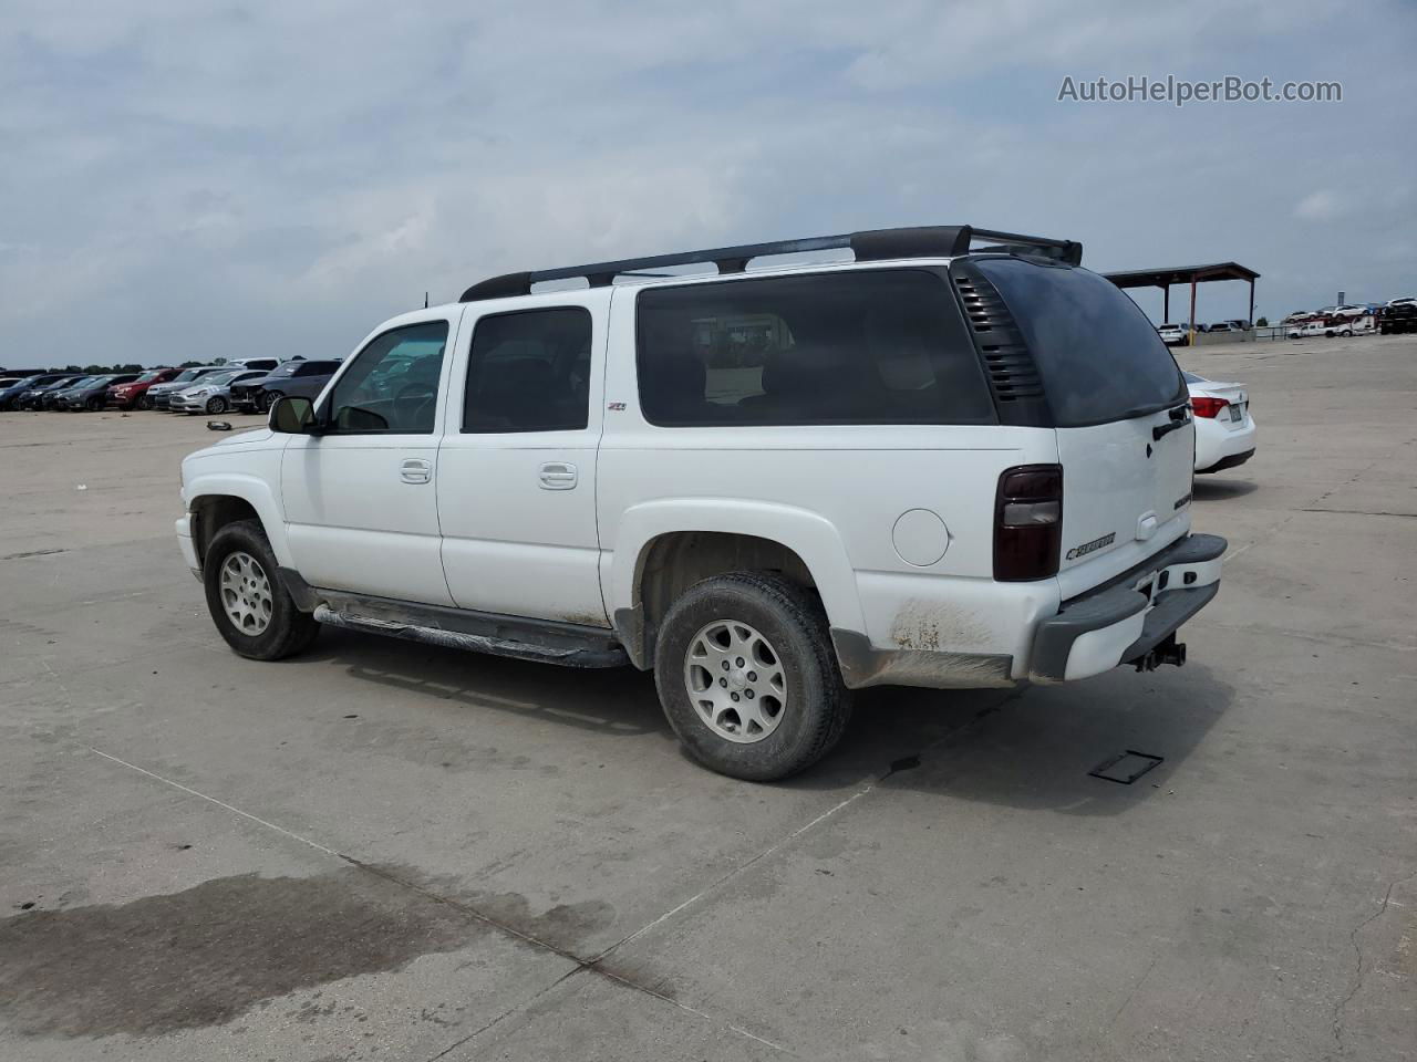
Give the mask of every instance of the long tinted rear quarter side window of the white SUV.
[(852, 270), (639, 295), (652, 423), (989, 423), (993, 406), (944, 279)]

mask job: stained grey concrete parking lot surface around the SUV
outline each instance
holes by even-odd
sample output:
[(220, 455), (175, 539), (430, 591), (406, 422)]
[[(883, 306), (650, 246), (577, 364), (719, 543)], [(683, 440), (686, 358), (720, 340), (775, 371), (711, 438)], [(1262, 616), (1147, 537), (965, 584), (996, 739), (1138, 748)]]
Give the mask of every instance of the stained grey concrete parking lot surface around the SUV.
[(774, 786), (633, 671), (241, 660), (204, 419), (0, 413), (0, 1058), (1411, 1058), (1417, 340), (1180, 361), (1260, 425), (1190, 663), (867, 691)]

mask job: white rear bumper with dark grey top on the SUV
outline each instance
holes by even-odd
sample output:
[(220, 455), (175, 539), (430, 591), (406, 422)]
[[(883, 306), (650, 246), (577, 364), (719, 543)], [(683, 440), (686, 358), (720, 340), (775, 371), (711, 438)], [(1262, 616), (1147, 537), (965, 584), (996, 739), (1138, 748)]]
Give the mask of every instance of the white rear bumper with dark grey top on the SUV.
[(1066, 602), (1039, 623), (1029, 680), (1063, 683), (1145, 657), (1220, 590), (1226, 539), (1189, 535), (1115, 585)]

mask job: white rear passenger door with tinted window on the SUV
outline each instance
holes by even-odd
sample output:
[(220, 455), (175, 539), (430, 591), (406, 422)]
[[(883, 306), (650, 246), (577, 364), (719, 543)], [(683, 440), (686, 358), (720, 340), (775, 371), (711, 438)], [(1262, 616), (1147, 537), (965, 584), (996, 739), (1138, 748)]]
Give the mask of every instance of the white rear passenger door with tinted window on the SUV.
[(595, 532), (609, 290), (478, 309), (438, 456), (448, 588), (465, 609), (609, 626)]

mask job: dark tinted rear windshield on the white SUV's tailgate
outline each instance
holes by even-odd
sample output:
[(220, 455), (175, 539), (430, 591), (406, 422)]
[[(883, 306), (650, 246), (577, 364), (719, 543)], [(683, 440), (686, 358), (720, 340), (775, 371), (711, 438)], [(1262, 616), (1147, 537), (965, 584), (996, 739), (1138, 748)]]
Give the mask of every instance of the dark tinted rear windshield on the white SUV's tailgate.
[(1019, 323), (1058, 428), (1125, 421), (1183, 401), (1176, 360), (1111, 280), (1016, 258), (975, 265)]

